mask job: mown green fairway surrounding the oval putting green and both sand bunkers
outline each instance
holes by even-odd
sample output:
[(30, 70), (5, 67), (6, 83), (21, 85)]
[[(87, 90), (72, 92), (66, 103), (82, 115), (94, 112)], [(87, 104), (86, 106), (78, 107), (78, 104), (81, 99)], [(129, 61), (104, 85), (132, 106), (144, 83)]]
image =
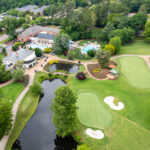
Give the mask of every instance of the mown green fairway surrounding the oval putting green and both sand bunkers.
[[(102, 99), (99, 99), (101, 103), (104, 101), (104, 97), (112, 95), (117, 96), (125, 104), (125, 108), (121, 111), (110, 110), (113, 122), (110, 127), (103, 130), (105, 133), (103, 140), (91, 139), (85, 134), (87, 127), (79, 125), (80, 135), (86, 144), (94, 150), (149, 149), (150, 90), (138, 89), (131, 86), (121, 72), (117, 81), (97, 81), (94, 79), (78, 81), (72, 77), (69, 86), (76, 94), (81, 90), (95, 91), (102, 97)], [(106, 105), (106, 107), (108, 106)]]

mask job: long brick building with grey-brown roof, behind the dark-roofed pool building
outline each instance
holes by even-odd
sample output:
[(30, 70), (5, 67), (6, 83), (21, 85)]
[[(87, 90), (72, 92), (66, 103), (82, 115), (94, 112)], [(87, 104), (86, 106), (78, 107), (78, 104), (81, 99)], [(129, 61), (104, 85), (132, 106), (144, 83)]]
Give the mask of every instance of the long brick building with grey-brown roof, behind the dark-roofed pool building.
[(56, 35), (58, 34), (60, 29), (58, 28), (48, 28), (48, 27), (42, 27), (42, 26), (32, 26), (25, 31), (23, 31), (21, 34), (18, 35), (18, 40), (21, 42), (27, 42), (30, 40), (31, 37), (36, 37), (40, 34), (40, 32), (45, 32), (47, 34)]

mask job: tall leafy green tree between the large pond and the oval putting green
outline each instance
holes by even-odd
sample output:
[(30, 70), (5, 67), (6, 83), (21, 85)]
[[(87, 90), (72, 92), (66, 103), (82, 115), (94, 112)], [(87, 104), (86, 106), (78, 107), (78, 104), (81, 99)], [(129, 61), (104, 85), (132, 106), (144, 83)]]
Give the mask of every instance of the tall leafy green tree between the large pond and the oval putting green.
[(76, 99), (77, 97), (68, 86), (59, 87), (55, 92), (51, 110), (58, 136), (71, 135), (76, 129)]

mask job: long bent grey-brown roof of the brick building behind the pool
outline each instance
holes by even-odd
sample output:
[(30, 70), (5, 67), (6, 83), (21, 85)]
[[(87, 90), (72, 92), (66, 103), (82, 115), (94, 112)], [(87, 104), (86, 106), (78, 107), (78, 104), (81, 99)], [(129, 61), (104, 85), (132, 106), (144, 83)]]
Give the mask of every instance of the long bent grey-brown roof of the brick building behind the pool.
[(32, 27), (26, 29), (25, 31), (23, 31), (21, 34), (19, 34), (19, 36), (21, 38), (25, 38), (28, 36), (34, 36), (35, 34), (38, 34), (39, 32), (42, 32), (42, 31), (53, 32), (53, 33), (57, 34), (57, 33), (59, 33), (60, 29), (35, 25), (35, 26), (32, 26)]

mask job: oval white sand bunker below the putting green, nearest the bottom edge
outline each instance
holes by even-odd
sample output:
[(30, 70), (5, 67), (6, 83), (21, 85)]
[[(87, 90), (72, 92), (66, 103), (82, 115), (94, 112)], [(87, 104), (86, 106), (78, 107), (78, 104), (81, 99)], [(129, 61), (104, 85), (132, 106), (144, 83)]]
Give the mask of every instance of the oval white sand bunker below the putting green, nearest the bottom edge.
[(104, 133), (101, 130), (92, 130), (90, 128), (86, 129), (86, 134), (95, 139), (103, 139)]

